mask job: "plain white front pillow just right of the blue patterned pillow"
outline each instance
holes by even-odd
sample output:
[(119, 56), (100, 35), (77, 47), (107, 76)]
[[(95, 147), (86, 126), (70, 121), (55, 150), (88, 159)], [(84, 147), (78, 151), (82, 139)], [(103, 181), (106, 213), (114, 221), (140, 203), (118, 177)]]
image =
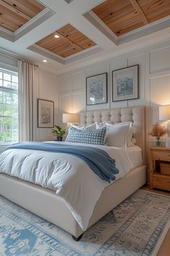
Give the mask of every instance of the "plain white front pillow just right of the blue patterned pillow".
[(105, 124), (107, 127), (107, 143), (112, 147), (123, 147), (128, 146), (128, 135), (132, 122), (122, 122), (117, 124)]

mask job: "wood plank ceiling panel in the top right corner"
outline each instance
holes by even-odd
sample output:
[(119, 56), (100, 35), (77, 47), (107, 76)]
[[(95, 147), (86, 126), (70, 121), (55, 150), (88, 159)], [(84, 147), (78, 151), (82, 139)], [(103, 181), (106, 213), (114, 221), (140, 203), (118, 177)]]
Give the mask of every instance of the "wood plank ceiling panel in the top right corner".
[(92, 11), (116, 35), (170, 15), (170, 0), (106, 0)]

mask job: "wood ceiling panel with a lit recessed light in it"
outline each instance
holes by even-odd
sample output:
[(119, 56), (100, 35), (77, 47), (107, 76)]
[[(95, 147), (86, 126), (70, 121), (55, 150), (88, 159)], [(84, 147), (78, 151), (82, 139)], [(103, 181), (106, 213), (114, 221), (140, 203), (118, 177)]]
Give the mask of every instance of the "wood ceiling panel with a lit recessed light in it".
[[(60, 38), (55, 38), (54, 35), (59, 35)], [(36, 44), (37, 46), (52, 51), (54, 54), (58, 54), (63, 58), (96, 45), (96, 43), (70, 24), (61, 27), (59, 30), (38, 41)]]

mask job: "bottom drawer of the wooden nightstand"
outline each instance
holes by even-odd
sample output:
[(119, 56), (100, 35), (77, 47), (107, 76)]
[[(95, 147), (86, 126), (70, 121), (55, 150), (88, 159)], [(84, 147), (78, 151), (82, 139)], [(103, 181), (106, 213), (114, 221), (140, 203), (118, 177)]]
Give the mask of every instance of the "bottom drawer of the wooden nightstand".
[(166, 189), (170, 191), (170, 176), (162, 176), (160, 174), (153, 175), (153, 187), (158, 189)]

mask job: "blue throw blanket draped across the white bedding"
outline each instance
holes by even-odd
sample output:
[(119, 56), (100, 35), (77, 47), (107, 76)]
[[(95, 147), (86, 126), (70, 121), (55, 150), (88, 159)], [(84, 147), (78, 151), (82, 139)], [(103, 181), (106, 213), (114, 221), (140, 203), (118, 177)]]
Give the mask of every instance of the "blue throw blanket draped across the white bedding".
[(45, 142), (22, 142), (9, 146), (6, 150), (19, 148), (28, 150), (43, 150), (56, 153), (75, 155), (84, 160), (91, 170), (106, 182), (114, 181), (115, 174), (119, 171), (115, 166), (115, 159), (111, 158), (104, 150), (79, 145), (64, 145)]

